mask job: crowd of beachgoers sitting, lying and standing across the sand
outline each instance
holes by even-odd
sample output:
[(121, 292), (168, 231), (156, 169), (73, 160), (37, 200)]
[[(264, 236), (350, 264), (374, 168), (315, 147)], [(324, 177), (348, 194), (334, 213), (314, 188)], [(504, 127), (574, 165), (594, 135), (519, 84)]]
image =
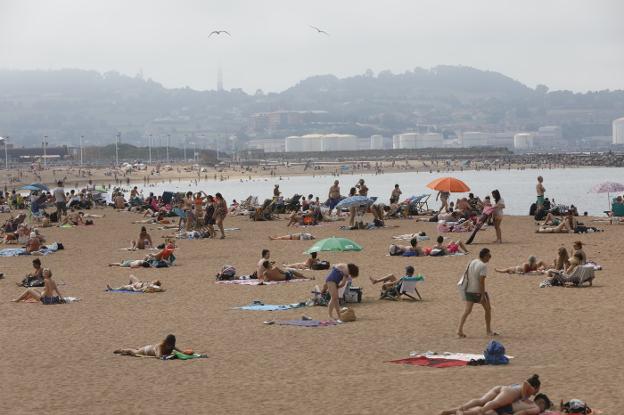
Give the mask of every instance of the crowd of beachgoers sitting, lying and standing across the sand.
[[(448, 238), (438, 235), (431, 246), (421, 246), (429, 236), (424, 233), (408, 234), (401, 238), (409, 241), (409, 245), (393, 243), (389, 247), (390, 256), (448, 256), (469, 255), (469, 247), (480, 230), (492, 226), (495, 232), (493, 243), (503, 243), (503, 223), (505, 201), (499, 190), (494, 189), (483, 199), (469, 193), (467, 197), (451, 200), (451, 189), (437, 190), (435, 201), (439, 206), (431, 209), (428, 204), (429, 195), (417, 198), (404, 199), (399, 184), (388, 189), (388, 203), (381, 198), (369, 196), (370, 190), (364, 179), (360, 179), (343, 194), (340, 181), (333, 181), (327, 195), (293, 195), (286, 198), (282, 195), (279, 185), (275, 185), (273, 194), (258, 203), (257, 198), (248, 199), (230, 205), (220, 192), (207, 194), (203, 191), (177, 194), (164, 192), (162, 195), (153, 193), (144, 194), (138, 187), (129, 191), (116, 188), (112, 191), (109, 209), (117, 212), (134, 213), (128, 216), (129, 223), (140, 225), (137, 236), (129, 241), (127, 251), (145, 251), (140, 259), (124, 259), (108, 264), (109, 266), (126, 268), (160, 268), (175, 264), (176, 239), (226, 239), (225, 223), (228, 215), (244, 215), (253, 221), (274, 220), (284, 215), (288, 219), (286, 228), (301, 227), (305, 231), (272, 235), (269, 241), (311, 241), (316, 239), (313, 227), (321, 222), (347, 223), (345, 230), (363, 231), (375, 228), (393, 226), (392, 220), (412, 220), (434, 222), (438, 224), (440, 233), (471, 233), (470, 238)], [(535, 186), (536, 200), (534, 202), (534, 216), (539, 219), (537, 233), (583, 233), (599, 231), (599, 229), (584, 225), (578, 220), (578, 211), (574, 206), (562, 209), (553, 209), (545, 197), (546, 189), (542, 177), (537, 178)], [(36, 255), (45, 242), (40, 228), (49, 226), (82, 226), (93, 224), (93, 219), (101, 218), (101, 214), (88, 213), (95, 209), (104, 209), (106, 201), (98, 196), (95, 186), (89, 183), (81, 190), (67, 192), (63, 182), (59, 181), (52, 191), (45, 189), (33, 190), (29, 197), (22, 197), (15, 191), (9, 195), (0, 195), (0, 205), (7, 205), (11, 212), (21, 212), (6, 221), (2, 228), (2, 240), (6, 244), (20, 244), (27, 254)], [(366, 217), (370, 222), (365, 222)], [(28, 221), (26, 219), (28, 218)], [(27, 223), (28, 222), (28, 223)], [(397, 222), (398, 223), (398, 222)], [(173, 233), (163, 235), (164, 242), (158, 243), (150, 234), (146, 225), (156, 225), (162, 230)], [(395, 225), (396, 226), (396, 225)], [(224, 242), (226, 243), (226, 242)], [(582, 241), (576, 241), (570, 252), (561, 247), (554, 260), (529, 256), (526, 262), (510, 265), (506, 268), (497, 268), (496, 272), (504, 274), (531, 274), (539, 273), (547, 277), (545, 285), (553, 286), (582, 286), (592, 284), (593, 270), (598, 265), (591, 262), (585, 253)], [(314, 277), (305, 275), (306, 270), (327, 270), (322, 281), (322, 288), (318, 289), (319, 297), (328, 299), (326, 306), (329, 319), (335, 323), (343, 323), (343, 314), (347, 312), (344, 305), (343, 293), (345, 287), (353, 284), (353, 280), (360, 275), (357, 264), (349, 261), (330, 265), (321, 259), (320, 250), (309, 252), (309, 257), (303, 262), (284, 264), (279, 267), (271, 260), (271, 250), (263, 249), (256, 269), (244, 279), (257, 280), (259, 284), (290, 282), (293, 280), (314, 280)], [(484, 310), (485, 333), (488, 338), (499, 338), (500, 334), (492, 328), (491, 299), (486, 289), (488, 276), (488, 262), (492, 252), (482, 248), (476, 257), (470, 260), (458, 282), (462, 294), (464, 310), (459, 318), (457, 336), (466, 337), (464, 325), (473, 312), (475, 305)], [(591, 271), (588, 271), (591, 265)], [(220, 279), (237, 279), (231, 266), (224, 267), (220, 272)], [(227, 271), (227, 272), (226, 272)], [(370, 277), (373, 285), (380, 284), (382, 298), (400, 297), (410, 294), (406, 286), (410, 281), (416, 281), (417, 275), (413, 266), (407, 266), (405, 273), (397, 277), (388, 274), (382, 277)], [(422, 281), (422, 278), (418, 279)], [(45, 305), (66, 302), (66, 297), (59, 292), (58, 285), (53, 279), (52, 270), (43, 267), (39, 258), (33, 260), (33, 270), (19, 282), (26, 288), (15, 302), (40, 302)], [(33, 287), (43, 287), (37, 290)], [(162, 282), (158, 279), (141, 281), (131, 275), (127, 284), (117, 287), (107, 286), (108, 290), (133, 291), (143, 293), (165, 292)], [(420, 294), (414, 291), (418, 297)], [(416, 299), (410, 295), (410, 298)], [(351, 310), (352, 313), (352, 310)], [(174, 335), (168, 335), (162, 342), (147, 345), (141, 348), (116, 349), (115, 354), (129, 356), (167, 357), (175, 352), (184, 356), (193, 355), (193, 351), (178, 349)], [(462, 406), (441, 412), (442, 414), (539, 414), (552, 407), (550, 399), (539, 393), (541, 382), (539, 376), (534, 375), (528, 380), (507, 386), (496, 386), (479, 399), (474, 399)], [(532, 399), (531, 399), (532, 398)]]

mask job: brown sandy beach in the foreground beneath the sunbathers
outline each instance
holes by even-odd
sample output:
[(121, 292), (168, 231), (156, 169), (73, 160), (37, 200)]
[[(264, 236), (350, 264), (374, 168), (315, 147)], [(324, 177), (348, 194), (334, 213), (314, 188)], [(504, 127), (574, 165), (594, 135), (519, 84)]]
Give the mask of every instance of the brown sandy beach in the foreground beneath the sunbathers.
[[(226, 194), (227, 197), (227, 194)], [(44, 307), (16, 304), (23, 288), (15, 282), (31, 269), (32, 257), (2, 258), (0, 315), (6, 358), (0, 361), (7, 414), (435, 414), (481, 396), (494, 385), (518, 383), (533, 373), (551, 399), (581, 398), (604, 413), (619, 409), (624, 375), (620, 353), (624, 323), (621, 264), (624, 228), (601, 224), (604, 233), (538, 235), (530, 217), (505, 217), (502, 245), (490, 244), (494, 230), (479, 234), (469, 256), (403, 258), (387, 256), (392, 235), (425, 231), (434, 224), (388, 221), (396, 228), (343, 231), (337, 224), (310, 227), (317, 238), (344, 236), (362, 252), (322, 254), (331, 263), (360, 266), (357, 285), (364, 300), (357, 321), (335, 327), (267, 326), (268, 319), (327, 318), (325, 307), (289, 311), (233, 310), (253, 300), (268, 304), (303, 301), (326, 271), (306, 271), (317, 281), (275, 286), (224, 286), (215, 274), (224, 264), (251, 273), (263, 248), (278, 264), (305, 259), (310, 241), (269, 241), (289, 233), (286, 221), (252, 222), (228, 217), (225, 240), (178, 241), (177, 263), (166, 269), (109, 268), (109, 262), (141, 258), (125, 252), (140, 225), (139, 215), (96, 210), (106, 217), (95, 226), (43, 229), (65, 250), (41, 257), (54, 271), (64, 295), (80, 302)], [(8, 217), (2, 215), (2, 219)], [(156, 239), (164, 231), (149, 225)], [(458, 234), (452, 234), (452, 237)], [(466, 239), (466, 234), (459, 234)], [(543, 276), (496, 274), (495, 267), (523, 263), (530, 254), (551, 262), (557, 249), (580, 239), (588, 257), (604, 270), (591, 288), (539, 288)], [(430, 246), (431, 241), (424, 242)], [(475, 309), (467, 338), (456, 336), (463, 303), (456, 283), (469, 259), (492, 249), (488, 291), (499, 341), (515, 356), (506, 366), (426, 368), (387, 363), (412, 351), (480, 353), (489, 338), (483, 311)], [(378, 300), (369, 276), (402, 275), (406, 265), (425, 275), (418, 286), (424, 301)], [(112, 294), (106, 284), (124, 284), (130, 273), (161, 279), (165, 293)], [(173, 333), (178, 345), (207, 353), (208, 359), (160, 361), (114, 355), (120, 347), (153, 344)]]

